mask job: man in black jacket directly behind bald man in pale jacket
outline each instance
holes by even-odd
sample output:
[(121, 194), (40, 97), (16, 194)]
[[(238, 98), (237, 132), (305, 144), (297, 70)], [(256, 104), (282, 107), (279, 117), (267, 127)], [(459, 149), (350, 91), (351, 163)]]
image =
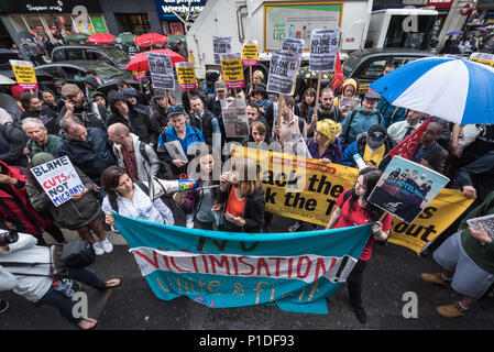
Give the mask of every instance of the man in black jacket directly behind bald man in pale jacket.
[(120, 122), (129, 128), (129, 130), (139, 136), (141, 141), (155, 145), (157, 140), (157, 131), (151, 125), (150, 116), (142, 110), (135, 109), (127, 100), (127, 98), (116, 90), (108, 94), (108, 103), (112, 114), (108, 119), (108, 125)]

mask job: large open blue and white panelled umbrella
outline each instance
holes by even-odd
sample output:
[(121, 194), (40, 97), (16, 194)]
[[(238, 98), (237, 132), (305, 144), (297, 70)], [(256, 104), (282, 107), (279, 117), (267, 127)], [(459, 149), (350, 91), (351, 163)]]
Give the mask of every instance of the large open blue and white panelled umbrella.
[(396, 107), (459, 124), (494, 124), (494, 68), (458, 57), (427, 57), (370, 85)]

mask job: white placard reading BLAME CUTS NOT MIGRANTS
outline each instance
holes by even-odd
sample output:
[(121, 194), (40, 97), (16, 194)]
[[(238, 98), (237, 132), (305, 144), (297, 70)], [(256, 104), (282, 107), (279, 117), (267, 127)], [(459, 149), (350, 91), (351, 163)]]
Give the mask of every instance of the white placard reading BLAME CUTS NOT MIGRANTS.
[(68, 156), (62, 156), (31, 168), (50, 200), (59, 207), (86, 190)]

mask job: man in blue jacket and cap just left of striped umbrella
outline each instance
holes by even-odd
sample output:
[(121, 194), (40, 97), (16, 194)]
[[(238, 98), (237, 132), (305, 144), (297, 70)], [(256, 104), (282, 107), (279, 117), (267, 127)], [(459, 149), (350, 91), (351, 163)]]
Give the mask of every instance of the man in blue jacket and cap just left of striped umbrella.
[(367, 132), (374, 124), (382, 124), (383, 117), (376, 109), (381, 96), (373, 90), (365, 94), (362, 107), (349, 113), (342, 123), (341, 144), (343, 150), (356, 141), (359, 134)]

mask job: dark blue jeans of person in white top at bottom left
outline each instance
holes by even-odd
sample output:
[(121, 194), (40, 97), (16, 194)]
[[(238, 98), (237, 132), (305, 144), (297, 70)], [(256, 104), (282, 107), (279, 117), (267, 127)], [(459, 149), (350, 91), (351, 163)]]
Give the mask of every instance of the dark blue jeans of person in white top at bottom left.
[[(106, 286), (106, 283), (87, 267), (69, 270), (68, 277), (98, 289), (103, 289)], [(83, 318), (75, 318), (73, 315), (73, 308), (76, 301), (72, 297), (67, 297), (63, 293), (55, 290), (53, 286), (50, 287), (48, 292), (37, 302), (57, 308), (61, 315), (72, 322), (78, 323), (83, 320)]]

